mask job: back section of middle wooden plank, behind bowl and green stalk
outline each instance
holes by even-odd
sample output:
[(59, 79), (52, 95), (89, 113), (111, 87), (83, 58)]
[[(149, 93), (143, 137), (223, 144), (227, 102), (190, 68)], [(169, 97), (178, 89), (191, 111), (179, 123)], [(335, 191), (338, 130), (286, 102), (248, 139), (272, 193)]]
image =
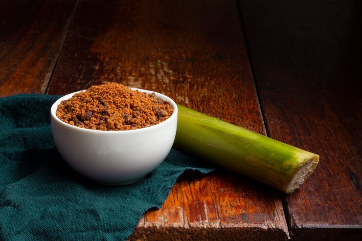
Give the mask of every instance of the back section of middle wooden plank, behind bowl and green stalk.
[(81, 2), (47, 93), (104, 82), (265, 133), (235, 3)]

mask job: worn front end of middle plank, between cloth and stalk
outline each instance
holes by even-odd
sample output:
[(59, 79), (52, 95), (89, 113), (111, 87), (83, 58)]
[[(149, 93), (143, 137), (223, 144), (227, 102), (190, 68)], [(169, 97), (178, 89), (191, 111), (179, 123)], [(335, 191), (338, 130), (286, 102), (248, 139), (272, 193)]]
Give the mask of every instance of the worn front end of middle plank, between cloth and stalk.
[(130, 240), (285, 240), (284, 214), (271, 197), (278, 199), (223, 171), (202, 178), (183, 175), (161, 209), (140, 220)]

